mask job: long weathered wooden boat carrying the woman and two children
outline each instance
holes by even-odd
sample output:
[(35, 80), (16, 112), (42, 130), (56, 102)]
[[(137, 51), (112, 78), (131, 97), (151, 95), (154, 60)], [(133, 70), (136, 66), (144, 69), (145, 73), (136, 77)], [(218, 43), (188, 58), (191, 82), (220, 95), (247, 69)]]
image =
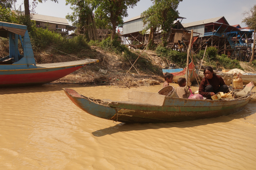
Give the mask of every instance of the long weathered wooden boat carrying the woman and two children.
[(193, 100), (168, 97), (153, 92), (132, 91), (129, 101), (94, 99), (65, 88), (68, 98), (85, 112), (125, 123), (165, 123), (209, 119), (237, 113), (245, 107), (250, 94), (237, 100)]

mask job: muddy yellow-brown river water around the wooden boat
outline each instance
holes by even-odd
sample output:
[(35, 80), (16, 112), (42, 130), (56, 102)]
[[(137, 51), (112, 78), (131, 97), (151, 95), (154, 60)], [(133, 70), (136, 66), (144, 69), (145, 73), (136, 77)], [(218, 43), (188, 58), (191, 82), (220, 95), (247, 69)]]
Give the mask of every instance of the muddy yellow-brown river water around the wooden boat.
[(127, 100), (131, 90), (161, 87), (0, 89), (0, 169), (256, 169), (256, 103), (214, 119), (126, 124), (87, 114), (63, 91)]

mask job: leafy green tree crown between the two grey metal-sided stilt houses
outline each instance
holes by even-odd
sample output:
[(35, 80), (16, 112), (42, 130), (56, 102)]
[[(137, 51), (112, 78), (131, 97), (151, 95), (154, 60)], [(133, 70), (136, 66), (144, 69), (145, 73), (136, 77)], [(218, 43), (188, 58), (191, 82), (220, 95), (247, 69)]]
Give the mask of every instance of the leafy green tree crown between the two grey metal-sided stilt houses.
[[(140, 14), (143, 18), (143, 24), (148, 24), (144, 32), (151, 28), (151, 31), (156, 31), (156, 28), (162, 29), (163, 42), (166, 41), (165, 34), (170, 31), (173, 21), (178, 17), (178, 5), (182, 0), (151, 0), (154, 4), (148, 10)], [(153, 29), (152, 29), (153, 28)], [(152, 34), (152, 33), (151, 33)]]

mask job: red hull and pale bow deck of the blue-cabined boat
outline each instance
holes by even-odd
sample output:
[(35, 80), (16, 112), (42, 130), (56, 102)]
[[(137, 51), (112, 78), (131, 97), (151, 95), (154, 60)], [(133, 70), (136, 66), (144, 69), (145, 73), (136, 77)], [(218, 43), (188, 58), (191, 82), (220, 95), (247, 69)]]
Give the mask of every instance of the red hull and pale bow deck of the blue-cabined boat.
[(23, 69), (20, 67), (20, 69), (15, 70), (8, 70), (8, 66), (15, 66), (13, 64), (3, 65), (4, 69), (0, 70), (0, 87), (44, 85), (78, 70), (86, 64), (96, 62), (99, 62), (99, 60), (88, 59), (73, 62), (38, 64), (36, 68)]

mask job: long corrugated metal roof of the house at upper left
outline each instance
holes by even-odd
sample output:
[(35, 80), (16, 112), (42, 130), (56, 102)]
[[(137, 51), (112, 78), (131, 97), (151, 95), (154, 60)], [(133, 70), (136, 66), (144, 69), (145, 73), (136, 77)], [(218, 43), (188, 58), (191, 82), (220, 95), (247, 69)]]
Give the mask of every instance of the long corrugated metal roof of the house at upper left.
[(34, 14), (32, 15), (32, 17), (33, 17), (32, 20), (36, 20), (36, 21), (69, 25), (68, 20), (66, 18), (51, 17), (51, 16), (39, 15), (39, 14)]

